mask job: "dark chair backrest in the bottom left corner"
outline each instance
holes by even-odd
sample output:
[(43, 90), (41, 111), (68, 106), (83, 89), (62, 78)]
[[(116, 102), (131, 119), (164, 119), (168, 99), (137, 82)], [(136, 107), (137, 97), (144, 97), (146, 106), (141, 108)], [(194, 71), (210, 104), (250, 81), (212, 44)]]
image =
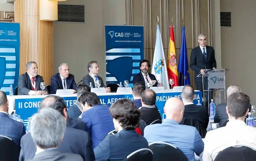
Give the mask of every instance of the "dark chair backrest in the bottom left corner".
[(19, 160), (20, 146), (6, 136), (0, 136), (0, 160), (17, 161)]

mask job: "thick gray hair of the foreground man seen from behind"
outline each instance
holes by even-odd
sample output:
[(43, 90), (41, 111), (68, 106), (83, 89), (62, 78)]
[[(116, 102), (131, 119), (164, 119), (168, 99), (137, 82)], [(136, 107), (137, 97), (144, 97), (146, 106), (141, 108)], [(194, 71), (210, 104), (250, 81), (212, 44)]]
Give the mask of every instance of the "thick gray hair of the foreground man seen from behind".
[(31, 137), (41, 149), (55, 148), (64, 137), (66, 121), (60, 112), (44, 107), (32, 116)]

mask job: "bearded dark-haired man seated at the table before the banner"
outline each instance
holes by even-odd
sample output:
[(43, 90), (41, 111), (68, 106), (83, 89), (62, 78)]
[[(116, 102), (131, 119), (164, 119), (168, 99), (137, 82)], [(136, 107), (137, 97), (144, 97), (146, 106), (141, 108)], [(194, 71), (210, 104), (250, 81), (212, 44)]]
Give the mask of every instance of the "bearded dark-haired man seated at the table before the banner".
[[(157, 87), (156, 77), (153, 74), (148, 73), (149, 67), (150, 67), (150, 64), (148, 60), (143, 59), (140, 61), (139, 63), (140, 72), (133, 77), (133, 84), (135, 84), (136, 82), (142, 82), (145, 84), (145, 82), (149, 83), (150, 80), (153, 80), (153, 87)], [(163, 86), (163, 84), (161, 83), (160, 86)]]

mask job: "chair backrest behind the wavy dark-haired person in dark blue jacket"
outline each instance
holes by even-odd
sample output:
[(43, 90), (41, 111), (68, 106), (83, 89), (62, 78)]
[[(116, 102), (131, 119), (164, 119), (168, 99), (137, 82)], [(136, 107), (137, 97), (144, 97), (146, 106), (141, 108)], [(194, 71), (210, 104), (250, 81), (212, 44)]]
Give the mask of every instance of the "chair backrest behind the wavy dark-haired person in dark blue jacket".
[(153, 152), (148, 148), (142, 148), (129, 154), (124, 161), (153, 161)]

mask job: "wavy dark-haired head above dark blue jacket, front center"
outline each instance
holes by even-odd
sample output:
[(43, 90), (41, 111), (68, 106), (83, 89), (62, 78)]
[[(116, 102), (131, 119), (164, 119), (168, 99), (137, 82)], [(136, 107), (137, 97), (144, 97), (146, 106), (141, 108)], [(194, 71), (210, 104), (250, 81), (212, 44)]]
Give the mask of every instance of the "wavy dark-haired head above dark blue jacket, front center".
[(110, 106), (109, 112), (120, 123), (123, 129), (133, 130), (139, 127), (140, 113), (131, 100), (118, 100)]

